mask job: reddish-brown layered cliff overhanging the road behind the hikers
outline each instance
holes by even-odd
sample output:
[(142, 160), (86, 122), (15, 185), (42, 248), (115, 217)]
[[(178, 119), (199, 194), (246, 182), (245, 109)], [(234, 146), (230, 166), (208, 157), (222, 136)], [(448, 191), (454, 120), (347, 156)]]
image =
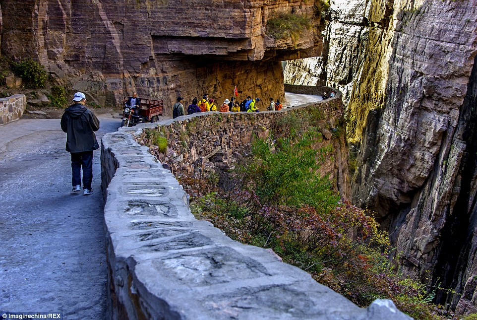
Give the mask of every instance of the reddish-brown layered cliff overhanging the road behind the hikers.
[[(209, 93), (283, 98), (281, 60), (321, 54), (313, 1), (0, 0), (1, 51), (33, 57), (100, 104), (124, 94), (190, 102)], [(6, 14), (8, 13), (8, 14)], [(315, 26), (275, 40), (282, 13)], [(241, 98), (241, 97), (240, 97)]]

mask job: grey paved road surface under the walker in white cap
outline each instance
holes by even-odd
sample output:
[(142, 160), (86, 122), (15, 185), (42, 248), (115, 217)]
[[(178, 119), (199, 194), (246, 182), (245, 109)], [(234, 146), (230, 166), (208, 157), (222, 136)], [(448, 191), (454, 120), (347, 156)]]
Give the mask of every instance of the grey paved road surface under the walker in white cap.
[[(120, 119), (98, 115), (116, 131)], [(0, 127), (0, 311), (104, 319), (106, 254), (100, 150), (93, 191), (71, 195), (70, 154), (59, 119)]]

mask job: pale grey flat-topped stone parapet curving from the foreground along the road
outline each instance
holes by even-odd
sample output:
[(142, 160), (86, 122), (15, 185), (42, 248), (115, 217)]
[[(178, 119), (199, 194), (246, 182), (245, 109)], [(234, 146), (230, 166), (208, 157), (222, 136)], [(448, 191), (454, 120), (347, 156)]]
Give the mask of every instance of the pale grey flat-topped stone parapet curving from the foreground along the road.
[[(246, 116), (273, 114), (280, 113)], [(109, 319), (410, 319), (389, 300), (361, 309), (273, 252), (196, 220), (170, 170), (135, 139), (146, 128), (201, 117), (215, 114), (119, 128), (103, 137)]]

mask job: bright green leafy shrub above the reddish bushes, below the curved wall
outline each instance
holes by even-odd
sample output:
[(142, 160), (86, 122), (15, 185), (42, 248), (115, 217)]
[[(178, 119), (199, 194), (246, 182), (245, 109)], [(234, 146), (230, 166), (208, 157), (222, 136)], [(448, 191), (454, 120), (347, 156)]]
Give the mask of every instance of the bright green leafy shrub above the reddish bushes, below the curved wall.
[(316, 150), (314, 145), (321, 139), (316, 128), (301, 137), (292, 130), (275, 143), (255, 139), (252, 157), (240, 172), (245, 185), (240, 188), (253, 190), (267, 204), (309, 205), (328, 212), (339, 197), (331, 190), (328, 177), (317, 173), (333, 150), (331, 145)]

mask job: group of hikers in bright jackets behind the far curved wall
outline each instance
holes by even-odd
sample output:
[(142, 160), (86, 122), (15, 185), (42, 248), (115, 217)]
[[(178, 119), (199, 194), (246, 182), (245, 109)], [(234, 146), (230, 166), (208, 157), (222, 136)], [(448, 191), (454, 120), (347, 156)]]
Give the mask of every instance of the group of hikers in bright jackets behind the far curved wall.
[[(184, 106), (183, 106), (183, 97), (178, 97), (177, 102), (174, 104), (173, 108), (173, 118), (185, 115)], [(267, 108), (268, 111), (279, 111), (282, 109), (282, 104), (280, 100), (277, 99), (275, 102), (273, 98), (270, 99), (270, 104)], [(238, 103), (234, 98), (231, 100), (225, 99), (222, 105), (217, 108), (215, 101), (212, 98), (209, 98), (208, 94), (204, 94), (200, 101), (197, 98), (192, 100), (192, 103), (187, 107), (187, 114), (192, 115), (197, 112), (207, 112), (207, 111), (219, 111), (219, 112), (259, 112), (258, 103), (260, 98), (252, 99), (248, 96), (241, 103)]]

